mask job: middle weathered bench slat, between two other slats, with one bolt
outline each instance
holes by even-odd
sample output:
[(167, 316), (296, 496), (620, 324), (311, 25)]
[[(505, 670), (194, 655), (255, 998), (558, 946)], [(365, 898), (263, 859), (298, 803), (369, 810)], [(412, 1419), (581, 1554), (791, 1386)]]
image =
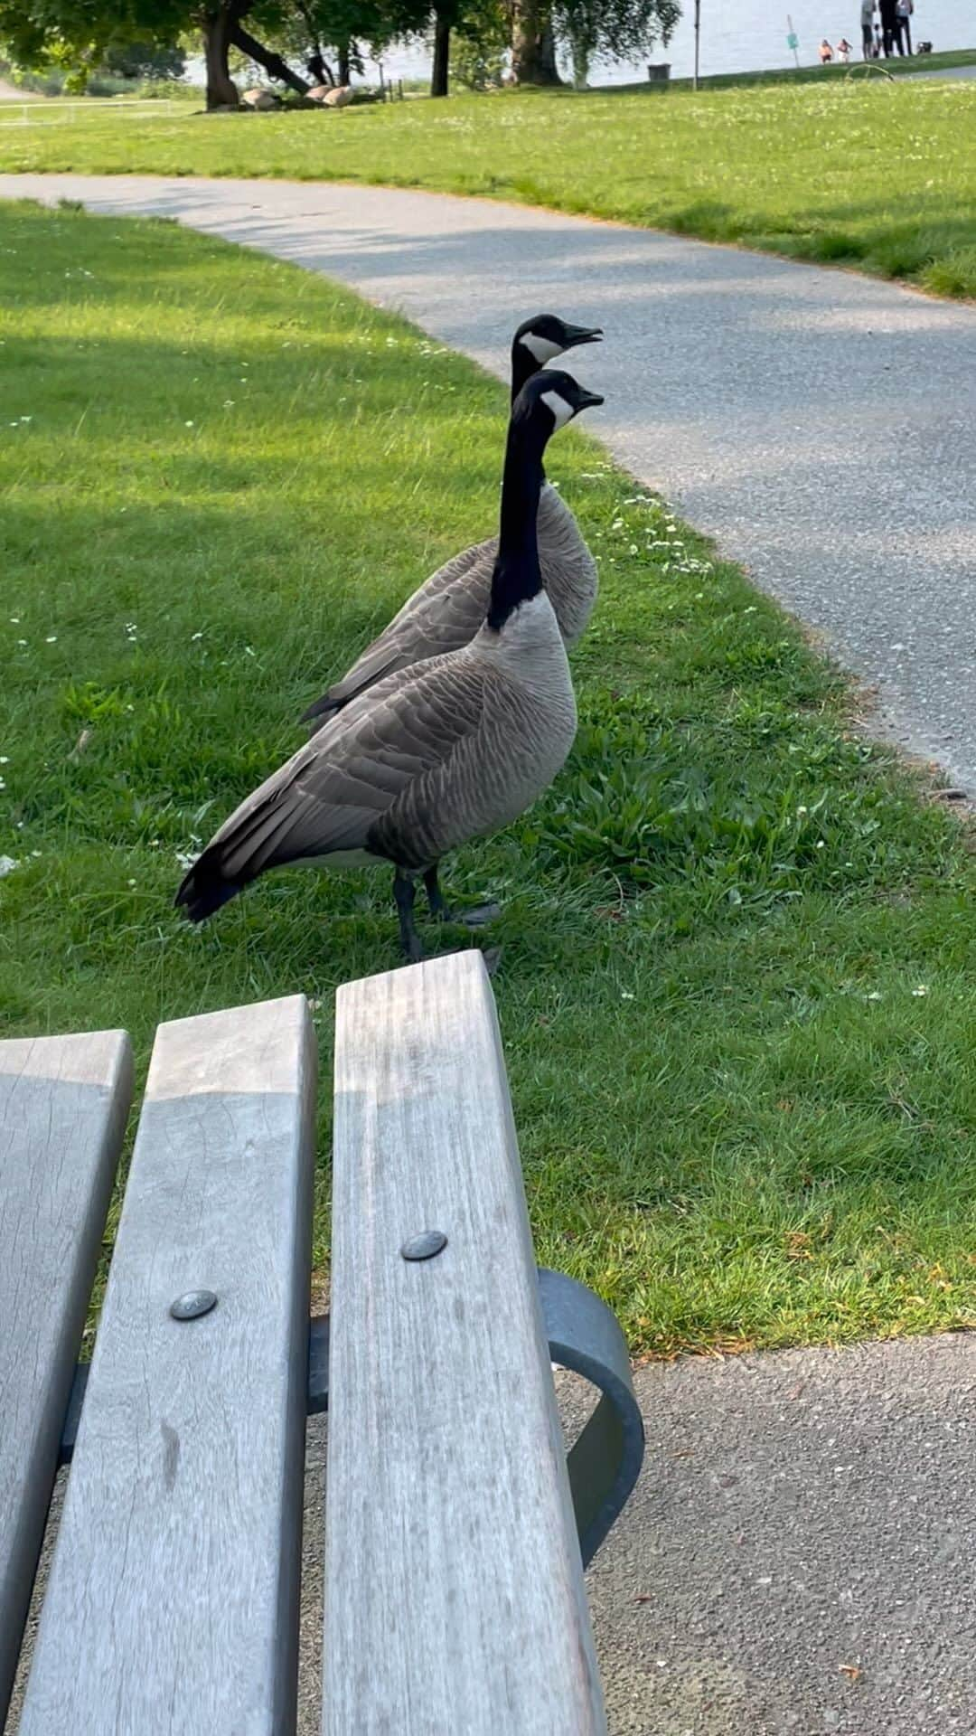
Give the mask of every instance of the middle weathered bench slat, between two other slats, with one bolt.
[(293, 1727), (314, 1076), (302, 996), (158, 1031), (21, 1736)]

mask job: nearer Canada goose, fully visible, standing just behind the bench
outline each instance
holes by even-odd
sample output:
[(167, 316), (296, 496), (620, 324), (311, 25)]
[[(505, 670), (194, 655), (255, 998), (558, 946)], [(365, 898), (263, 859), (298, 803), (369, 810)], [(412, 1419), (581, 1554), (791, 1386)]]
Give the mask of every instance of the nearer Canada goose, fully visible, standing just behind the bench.
[[(448, 917), (441, 856), (516, 819), (573, 745), (577, 703), (542, 589), (535, 517), (551, 434), (601, 403), (568, 373), (537, 373), (523, 387), (509, 420), (498, 556), (479, 632), (460, 651), (396, 670), (359, 694), (241, 802), (179, 887), (175, 903), (191, 922), (267, 868), (386, 861), (394, 865), (403, 950), (422, 957), (417, 875), (431, 915)], [(483, 920), (485, 910), (469, 917)]]

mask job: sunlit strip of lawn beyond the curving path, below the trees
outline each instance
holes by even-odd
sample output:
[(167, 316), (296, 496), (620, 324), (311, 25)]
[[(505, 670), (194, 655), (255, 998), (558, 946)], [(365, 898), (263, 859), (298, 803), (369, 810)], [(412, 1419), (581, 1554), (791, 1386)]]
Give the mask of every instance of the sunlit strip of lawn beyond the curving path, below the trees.
[(742, 241), (976, 297), (976, 80), (497, 94), (337, 115), (49, 104), (3, 170), (439, 187)]

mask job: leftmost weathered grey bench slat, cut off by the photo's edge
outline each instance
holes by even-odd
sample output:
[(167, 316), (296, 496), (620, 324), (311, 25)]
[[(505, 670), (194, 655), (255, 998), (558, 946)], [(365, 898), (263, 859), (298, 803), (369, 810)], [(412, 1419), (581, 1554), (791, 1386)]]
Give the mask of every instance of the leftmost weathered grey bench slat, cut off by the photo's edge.
[(0, 1727), (130, 1101), (123, 1031), (0, 1043)]

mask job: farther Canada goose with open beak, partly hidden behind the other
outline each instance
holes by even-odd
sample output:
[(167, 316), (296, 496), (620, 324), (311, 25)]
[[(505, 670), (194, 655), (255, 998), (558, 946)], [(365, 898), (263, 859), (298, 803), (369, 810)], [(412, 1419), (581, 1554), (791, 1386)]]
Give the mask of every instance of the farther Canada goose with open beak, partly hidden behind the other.
[[(524, 319), (512, 339), (512, 404), (526, 380), (552, 356), (578, 344), (599, 344), (599, 326), (575, 326), (557, 314), (535, 314)], [(596, 602), (596, 562), (580, 536), (580, 528), (570, 507), (551, 483), (545, 483), (538, 500), (538, 559), (542, 583), (552, 599), (556, 620), (566, 644), (573, 644), (587, 625)], [(358, 693), (396, 668), (422, 663), (441, 651), (465, 646), (481, 627), (491, 590), (491, 568), (498, 552), (498, 538), (474, 543), (455, 554), (446, 566), (406, 599), (389, 627), (373, 639), (353, 668), (337, 681), (321, 700), (302, 712), (300, 722), (326, 719), (340, 712)]]

